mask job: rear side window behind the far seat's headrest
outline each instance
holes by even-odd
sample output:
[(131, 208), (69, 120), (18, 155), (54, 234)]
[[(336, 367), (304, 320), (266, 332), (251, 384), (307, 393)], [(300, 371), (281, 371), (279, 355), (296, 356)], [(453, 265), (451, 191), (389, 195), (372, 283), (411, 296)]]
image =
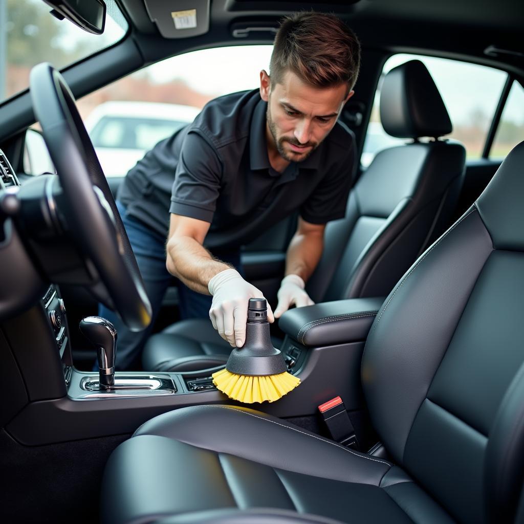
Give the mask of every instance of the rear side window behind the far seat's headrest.
[[(453, 132), (446, 138), (460, 140), (466, 148), (467, 158), (481, 158), (507, 73), (458, 60), (395, 54), (384, 64), (381, 80), (397, 65), (413, 59), (420, 60), (428, 68), (450, 114)], [(380, 124), (381, 84), (380, 81), (364, 142), (361, 158), (364, 167), (369, 165), (379, 150), (406, 142), (389, 137)]]

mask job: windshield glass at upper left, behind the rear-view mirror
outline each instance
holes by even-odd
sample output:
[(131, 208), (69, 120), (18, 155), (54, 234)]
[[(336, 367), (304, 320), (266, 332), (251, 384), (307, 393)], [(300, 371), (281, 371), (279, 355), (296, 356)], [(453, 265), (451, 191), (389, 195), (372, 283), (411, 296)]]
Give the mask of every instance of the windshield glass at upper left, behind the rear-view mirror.
[(42, 0), (0, 0), (0, 102), (27, 89), (37, 63), (63, 69), (120, 40), (127, 22), (114, 0), (106, 5), (104, 34), (92, 35), (52, 16)]

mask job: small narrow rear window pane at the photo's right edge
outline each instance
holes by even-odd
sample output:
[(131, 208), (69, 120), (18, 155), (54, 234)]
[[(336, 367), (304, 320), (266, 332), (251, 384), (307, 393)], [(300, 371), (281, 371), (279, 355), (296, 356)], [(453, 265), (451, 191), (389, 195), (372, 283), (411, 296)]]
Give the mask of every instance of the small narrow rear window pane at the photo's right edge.
[(489, 158), (501, 160), (524, 140), (524, 89), (514, 81), (500, 117)]

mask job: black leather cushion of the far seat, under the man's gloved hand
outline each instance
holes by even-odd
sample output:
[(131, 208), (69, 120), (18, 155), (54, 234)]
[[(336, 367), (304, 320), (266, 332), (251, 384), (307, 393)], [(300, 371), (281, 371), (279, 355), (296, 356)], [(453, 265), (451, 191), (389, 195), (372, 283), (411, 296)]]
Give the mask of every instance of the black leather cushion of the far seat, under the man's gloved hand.
[[(271, 337), (274, 346), (282, 341)], [(142, 354), (147, 371), (185, 372), (223, 366), (232, 347), (206, 319), (182, 320), (149, 338)]]

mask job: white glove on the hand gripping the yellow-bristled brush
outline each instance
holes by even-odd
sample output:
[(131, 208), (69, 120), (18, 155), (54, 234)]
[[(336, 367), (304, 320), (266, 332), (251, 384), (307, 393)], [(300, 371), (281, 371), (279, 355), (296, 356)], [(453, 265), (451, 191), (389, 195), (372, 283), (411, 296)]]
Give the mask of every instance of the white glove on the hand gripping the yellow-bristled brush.
[[(236, 269), (217, 273), (208, 284), (213, 295), (209, 318), (220, 336), (233, 347), (242, 347), (246, 341), (247, 306), (250, 298), (265, 298), (264, 294), (246, 282)], [(269, 303), (267, 320), (275, 317)]]

